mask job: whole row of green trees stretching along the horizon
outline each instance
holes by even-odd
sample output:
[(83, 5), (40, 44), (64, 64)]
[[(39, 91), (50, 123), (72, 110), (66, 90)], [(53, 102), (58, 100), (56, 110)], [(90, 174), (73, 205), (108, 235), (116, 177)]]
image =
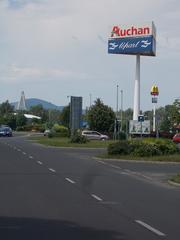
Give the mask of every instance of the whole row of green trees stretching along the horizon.
[[(24, 117), (24, 114), (32, 114), (39, 116), (41, 119), (32, 119), (29, 123)], [(153, 111), (148, 110), (142, 112), (146, 120), (153, 120)], [(111, 134), (114, 131), (114, 122), (116, 117), (121, 115), (121, 112), (116, 114), (111, 107), (105, 105), (101, 99), (96, 99), (94, 104), (85, 111), (82, 119), (88, 123), (88, 127), (92, 130), (97, 130), (103, 133)], [(127, 132), (128, 122), (132, 120), (133, 110), (131, 108), (122, 111), (122, 131)], [(61, 124), (69, 128), (70, 106), (65, 106), (62, 111), (44, 109), (42, 105), (30, 107), (28, 111), (16, 111), (14, 107), (7, 101), (0, 104), (0, 125), (9, 125), (12, 129), (31, 125), (41, 126), (43, 129), (51, 128), (54, 124)], [(177, 99), (172, 105), (159, 107), (156, 110), (156, 122), (159, 131), (175, 132), (180, 129), (180, 100)]]

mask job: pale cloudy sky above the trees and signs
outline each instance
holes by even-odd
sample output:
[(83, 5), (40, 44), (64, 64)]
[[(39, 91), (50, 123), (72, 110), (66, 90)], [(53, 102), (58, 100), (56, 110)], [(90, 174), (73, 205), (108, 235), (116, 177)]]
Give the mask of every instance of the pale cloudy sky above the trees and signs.
[(151, 21), (157, 55), (141, 57), (144, 111), (153, 84), (158, 106), (180, 97), (179, 0), (0, 0), (0, 103), (24, 91), (59, 106), (100, 98), (115, 110), (119, 85), (123, 108), (133, 108), (136, 57), (108, 54), (108, 37), (113, 25)]

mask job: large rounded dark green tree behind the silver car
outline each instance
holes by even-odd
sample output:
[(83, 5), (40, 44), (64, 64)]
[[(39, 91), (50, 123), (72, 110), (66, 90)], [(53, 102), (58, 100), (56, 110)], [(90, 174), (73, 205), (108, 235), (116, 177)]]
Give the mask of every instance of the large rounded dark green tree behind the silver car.
[(100, 132), (112, 132), (115, 113), (98, 98), (88, 111), (90, 129)]

